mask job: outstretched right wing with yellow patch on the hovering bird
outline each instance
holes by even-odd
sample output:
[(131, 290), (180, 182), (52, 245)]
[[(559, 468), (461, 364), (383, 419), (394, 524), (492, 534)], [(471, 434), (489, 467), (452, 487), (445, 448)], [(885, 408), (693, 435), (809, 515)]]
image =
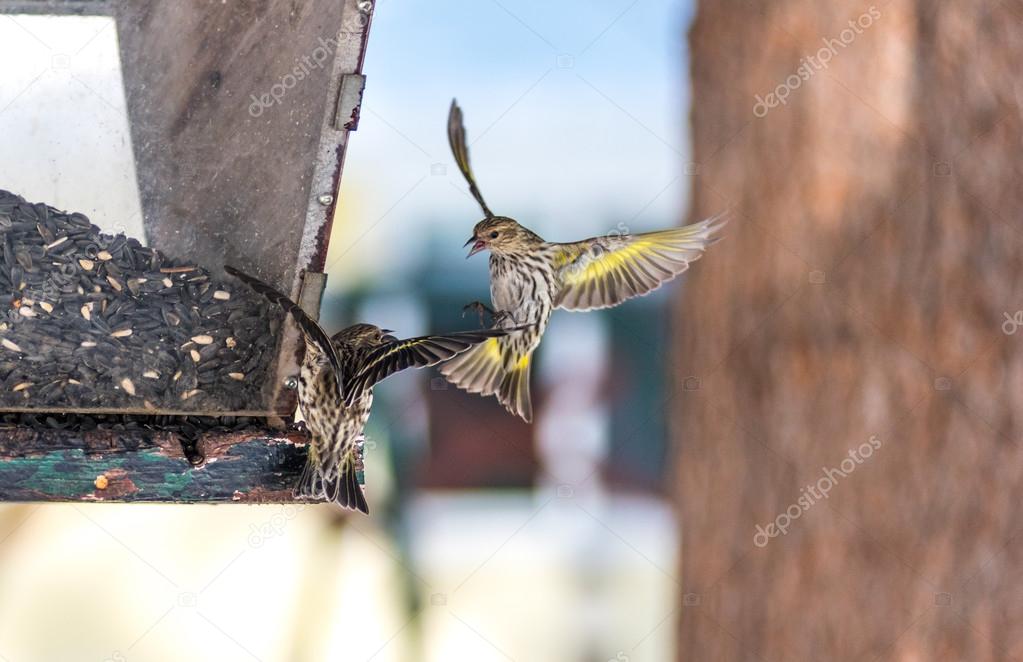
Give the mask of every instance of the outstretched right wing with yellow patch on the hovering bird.
[(726, 222), (719, 215), (671, 230), (558, 245), (554, 266), (561, 289), (554, 305), (608, 308), (653, 292), (700, 259), (720, 238), (716, 235)]

